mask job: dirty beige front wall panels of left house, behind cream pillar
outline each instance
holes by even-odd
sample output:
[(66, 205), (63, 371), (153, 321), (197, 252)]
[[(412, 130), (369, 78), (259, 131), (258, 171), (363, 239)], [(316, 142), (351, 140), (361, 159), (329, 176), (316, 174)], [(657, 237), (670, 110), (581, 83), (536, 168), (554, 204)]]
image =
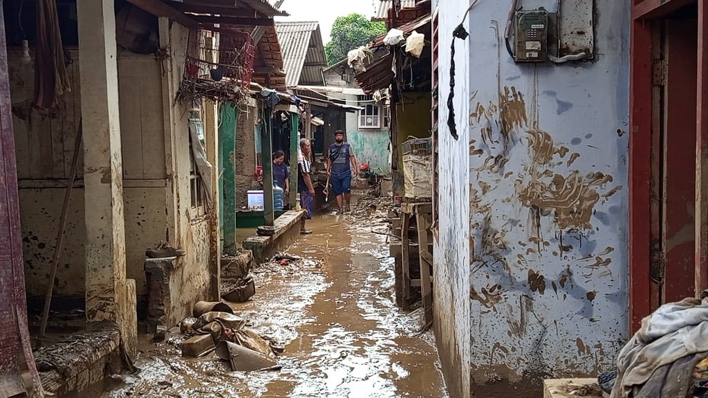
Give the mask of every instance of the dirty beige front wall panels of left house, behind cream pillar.
[[(30, 297), (43, 295), (62, 214), (64, 186), (71, 169), (74, 137), (81, 119), (78, 52), (69, 67), (72, 92), (52, 115), (30, 108), (33, 69), (11, 65), (13, 122), (18, 140), (18, 178), (21, 184), (25, 285)], [(118, 59), (120, 122), (123, 148), (123, 187), (127, 278), (137, 281), (137, 294), (147, 294), (143, 262), (145, 249), (165, 239), (166, 164), (161, 118), (159, 62), (153, 56), (123, 52)], [(79, 154), (77, 176), (83, 174)], [(55, 280), (57, 297), (81, 298), (85, 290), (83, 182), (77, 181), (67, 216), (67, 231)]]

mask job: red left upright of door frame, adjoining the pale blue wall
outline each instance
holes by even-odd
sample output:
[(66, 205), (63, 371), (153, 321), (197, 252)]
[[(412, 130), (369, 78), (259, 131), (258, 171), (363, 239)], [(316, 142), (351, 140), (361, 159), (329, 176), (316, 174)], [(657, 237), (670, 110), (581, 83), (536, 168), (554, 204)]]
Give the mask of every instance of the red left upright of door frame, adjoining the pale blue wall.
[(629, 319), (632, 333), (649, 314), (651, 179), (651, 24), (632, 22), (629, 113)]

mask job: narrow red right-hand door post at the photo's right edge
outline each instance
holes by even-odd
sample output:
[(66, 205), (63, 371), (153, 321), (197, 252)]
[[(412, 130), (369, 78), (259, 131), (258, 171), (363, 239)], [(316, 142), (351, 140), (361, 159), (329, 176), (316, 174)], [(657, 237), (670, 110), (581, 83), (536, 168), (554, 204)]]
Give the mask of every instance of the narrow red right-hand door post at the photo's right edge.
[(695, 294), (708, 288), (708, 3), (698, 2)]

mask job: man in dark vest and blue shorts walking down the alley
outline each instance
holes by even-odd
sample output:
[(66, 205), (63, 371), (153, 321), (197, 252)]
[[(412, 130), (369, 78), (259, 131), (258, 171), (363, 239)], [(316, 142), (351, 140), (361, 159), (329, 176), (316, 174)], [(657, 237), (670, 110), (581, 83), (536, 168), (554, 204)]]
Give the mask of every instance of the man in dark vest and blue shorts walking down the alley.
[(348, 142), (344, 142), (344, 132), (334, 132), (334, 144), (329, 146), (327, 157), (327, 176), (332, 183), (332, 191), (337, 198), (338, 214), (350, 212), (352, 172), (357, 176), (358, 167), (354, 151)]

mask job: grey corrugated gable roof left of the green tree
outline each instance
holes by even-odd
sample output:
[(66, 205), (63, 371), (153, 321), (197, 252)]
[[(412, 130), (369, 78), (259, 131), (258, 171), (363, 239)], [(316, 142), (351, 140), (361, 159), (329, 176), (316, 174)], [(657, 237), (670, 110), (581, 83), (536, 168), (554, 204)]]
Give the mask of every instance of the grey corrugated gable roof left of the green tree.
[(287, 86), (324, 84), (322, 69), (327, 67), (324, 42), (317, 22), (278, 22)]

